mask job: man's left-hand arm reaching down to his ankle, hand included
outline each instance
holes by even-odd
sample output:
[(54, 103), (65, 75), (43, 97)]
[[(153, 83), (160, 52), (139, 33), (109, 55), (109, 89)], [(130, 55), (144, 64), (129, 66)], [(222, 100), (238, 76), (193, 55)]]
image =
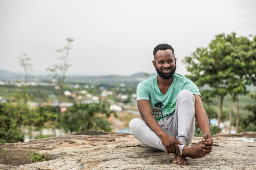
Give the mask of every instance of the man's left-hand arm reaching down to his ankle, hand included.
[(161, 139), (167, 153), (178, 153), (180, 154), (180, 149), (178, 144), (180, 141), (170, 135), (168, 135), (164, 130), (158, 125), (157, 121), (153, 117), (152, 109), (149, 100), (138, 100), (138, 109), (141, 114), (142, 120), (144, 120), (148, 127), (155, 132), (156, 135)]

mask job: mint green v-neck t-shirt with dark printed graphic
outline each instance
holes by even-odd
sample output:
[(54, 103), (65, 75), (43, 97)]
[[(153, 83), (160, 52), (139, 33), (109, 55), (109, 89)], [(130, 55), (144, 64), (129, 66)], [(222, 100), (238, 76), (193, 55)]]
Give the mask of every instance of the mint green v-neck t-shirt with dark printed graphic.
[(157, 121), (173, 115), (177, 96), (181, 90), (189, 90), (192, 94), (201, 96), (195, 83), (177, 73), (174, 74), (173, 82), (166, 94), (162, 94), (157, 84), (157, 75), (149, 77), (137, 86), (137, 100), (150, 101), (153, 117)]

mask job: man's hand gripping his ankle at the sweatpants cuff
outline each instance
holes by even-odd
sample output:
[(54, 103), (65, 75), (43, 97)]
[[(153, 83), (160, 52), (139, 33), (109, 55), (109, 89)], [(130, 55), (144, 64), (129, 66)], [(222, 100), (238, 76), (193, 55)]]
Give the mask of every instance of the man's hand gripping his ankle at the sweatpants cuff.
[(169, 135), (165, 135), (164, 137), (161, 138), (161, 142), (163, 143), (167, 153), (178, 153), (180, 154), (180, 149), (178, 144), (182, 144), (180, 143), (180, 141), (172, 136)]

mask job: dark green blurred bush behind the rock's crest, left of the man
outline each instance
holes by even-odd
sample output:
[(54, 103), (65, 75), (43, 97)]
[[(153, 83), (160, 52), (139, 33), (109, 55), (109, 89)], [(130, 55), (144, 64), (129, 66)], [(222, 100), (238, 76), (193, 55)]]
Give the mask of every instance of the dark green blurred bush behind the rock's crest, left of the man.
[(106, 120), (110, 114), (109, 104), (106, 102), (76, 103), (62, 114), (60, 124), (66, 132), (81, 132), (92, 129), (110, 132), (111, 128)]

